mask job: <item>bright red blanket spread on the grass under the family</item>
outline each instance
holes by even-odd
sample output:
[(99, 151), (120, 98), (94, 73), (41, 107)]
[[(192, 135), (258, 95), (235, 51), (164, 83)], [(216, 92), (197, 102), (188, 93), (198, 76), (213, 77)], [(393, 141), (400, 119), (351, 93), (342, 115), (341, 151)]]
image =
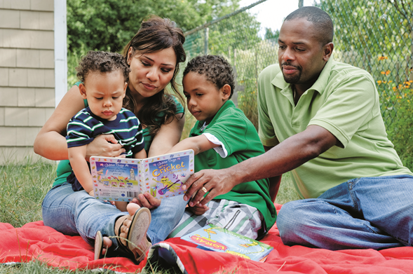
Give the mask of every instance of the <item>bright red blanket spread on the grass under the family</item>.
[[(280, 205), (277, 205), (278, 210)], [(27, 262), (38, 259), (50, 266), (75, 268), (111, 268), (121, 272), (142, 269), (145, 259), (136, 266), (125, 258), (93, 260), (93, 247), (79, 236), (67, 236), (42, 221), (13, 228), (0, 223), (0, 263)], [(276, 226), (261, 240), (274, 247), (264, 263), (219, 252), (209, 252), (173, 238), (166, 240), (176, 252), (188, 273), (215, 273), (238, 269), (241, 273), (413, 273), (413, 247), (397, 247), (376, 251), (348, 249), (329, 251), (283, 245)]]

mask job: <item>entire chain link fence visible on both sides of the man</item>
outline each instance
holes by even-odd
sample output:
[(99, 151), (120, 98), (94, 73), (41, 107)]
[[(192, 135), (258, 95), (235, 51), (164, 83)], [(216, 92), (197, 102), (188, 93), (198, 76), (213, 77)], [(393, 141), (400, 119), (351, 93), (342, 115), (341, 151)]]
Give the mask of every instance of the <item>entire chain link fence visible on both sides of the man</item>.
[[(256, 15), (249, 13), (262, 2), (187, 32), (184, 44), (188, 60), (203, 54), (229, 60), (236, 75), (233, 101), (256, 126), (257, 77), (278, 62), (278, 31), (260, 36)], [(377, 80), (382, 115), (391, 128), (402, 101), (412, 100), (412, 1), (321, 0), (316, 6), (334, 21), (334, 60), (366, 69)]]

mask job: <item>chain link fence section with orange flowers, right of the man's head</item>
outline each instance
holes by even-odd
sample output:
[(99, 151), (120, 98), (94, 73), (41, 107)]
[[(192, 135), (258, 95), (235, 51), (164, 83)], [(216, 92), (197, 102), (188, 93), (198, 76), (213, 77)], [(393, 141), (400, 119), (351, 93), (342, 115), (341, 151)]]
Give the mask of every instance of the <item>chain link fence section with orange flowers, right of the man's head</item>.
[(412, 106), (412, 1), (321, 1), (334, 21), (334, 59), (361, 67), (377, 81), (386, 128)]

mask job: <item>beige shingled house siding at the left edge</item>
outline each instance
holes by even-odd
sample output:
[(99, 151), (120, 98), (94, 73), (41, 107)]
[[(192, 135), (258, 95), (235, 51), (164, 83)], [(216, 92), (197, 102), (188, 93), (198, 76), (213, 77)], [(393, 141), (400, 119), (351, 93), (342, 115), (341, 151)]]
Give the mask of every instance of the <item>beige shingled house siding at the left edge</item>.
[(53, 0), (0, 0), (0, 165), (35, 156), (55, 109)]

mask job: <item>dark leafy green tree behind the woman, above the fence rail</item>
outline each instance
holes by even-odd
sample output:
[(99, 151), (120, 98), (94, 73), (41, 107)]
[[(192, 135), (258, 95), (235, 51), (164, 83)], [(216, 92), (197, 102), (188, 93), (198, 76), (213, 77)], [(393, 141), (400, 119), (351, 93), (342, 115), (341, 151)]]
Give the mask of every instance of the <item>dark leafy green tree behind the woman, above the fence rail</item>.
[(120, 52), (148, 15), (170, 18), (184, 31), (238, 8), (239, 0), (68, 0), (68, 83), (88, 50)]

